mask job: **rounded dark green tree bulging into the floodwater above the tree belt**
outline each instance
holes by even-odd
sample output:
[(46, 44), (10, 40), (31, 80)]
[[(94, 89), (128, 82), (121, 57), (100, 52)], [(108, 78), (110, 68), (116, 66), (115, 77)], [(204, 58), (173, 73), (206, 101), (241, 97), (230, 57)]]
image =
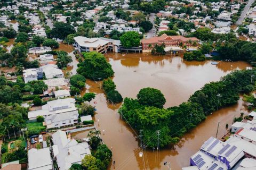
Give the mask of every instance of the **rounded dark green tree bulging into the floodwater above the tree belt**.
[(154, 88), (143, 88), (137, 95), (141, 105), (163, 108), (166, 99), (160, 90)]

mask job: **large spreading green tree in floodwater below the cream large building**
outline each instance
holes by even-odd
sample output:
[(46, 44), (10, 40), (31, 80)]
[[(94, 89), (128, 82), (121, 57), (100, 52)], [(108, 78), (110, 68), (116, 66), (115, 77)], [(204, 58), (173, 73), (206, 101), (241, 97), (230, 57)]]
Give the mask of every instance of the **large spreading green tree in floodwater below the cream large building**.
[(77, 73), (82, 74), (85, 78), (94, 81), (106, 79), (114, 75), (111, 65), (106, 61), (106, 58), (96, 52), (83, 53), (84, 61), (79, 63)]

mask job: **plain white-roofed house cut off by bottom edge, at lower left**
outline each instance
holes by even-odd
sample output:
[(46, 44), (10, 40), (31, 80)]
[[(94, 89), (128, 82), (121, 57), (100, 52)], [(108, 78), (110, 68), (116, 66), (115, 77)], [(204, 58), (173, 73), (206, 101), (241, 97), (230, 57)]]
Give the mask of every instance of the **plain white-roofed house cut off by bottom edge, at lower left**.
[(29, 149), (28, 150), (28, 170), (52, 170), (53, 163), (50, 149)]

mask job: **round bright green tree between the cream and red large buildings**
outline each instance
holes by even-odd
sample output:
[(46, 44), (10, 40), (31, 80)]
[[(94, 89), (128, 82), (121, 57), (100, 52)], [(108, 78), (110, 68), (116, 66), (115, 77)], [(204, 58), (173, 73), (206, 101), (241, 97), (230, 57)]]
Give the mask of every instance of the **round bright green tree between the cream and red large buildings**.
[(138, 32), (128, 31), (125, 32), (121, 37), (121, 44), (125, 48), (138, 47), (140, 45), (140, 36)]

